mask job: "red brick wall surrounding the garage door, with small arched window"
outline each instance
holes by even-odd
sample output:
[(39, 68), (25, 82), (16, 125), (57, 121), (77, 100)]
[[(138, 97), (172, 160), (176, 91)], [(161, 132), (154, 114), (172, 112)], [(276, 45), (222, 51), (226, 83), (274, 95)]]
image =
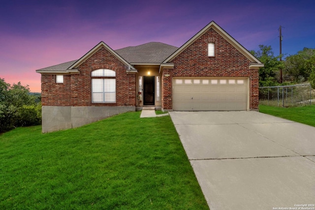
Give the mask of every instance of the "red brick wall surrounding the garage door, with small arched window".
[[(208, 57), (209, 38), (215, 41), (215, 57)], [(172, 80), (169, 80), (172, 77), (248, 77), (251, 80), (250, 109), (258, 108), (258, 70), (250, 70), (251, 61), (217, 31), (208, 30), (170, 62), (174, 63), (174, 69), (167, 71), (171, 76), (163, 80), (168, 83), (163, 84), (163, 89), (168, 89), (172, 84)], [(169, 95), (166, 94), (168, 90), (163, 91), (163, 109), (172, 109)]]

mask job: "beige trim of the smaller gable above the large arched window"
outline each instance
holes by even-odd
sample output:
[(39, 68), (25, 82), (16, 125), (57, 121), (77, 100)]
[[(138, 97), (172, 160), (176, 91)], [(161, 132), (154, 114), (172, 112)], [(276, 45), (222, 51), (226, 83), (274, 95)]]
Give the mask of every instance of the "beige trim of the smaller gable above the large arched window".
[(84, 61), (88, 60), (92, 55), (94, 55), (100, 48), (104, 47), (108, 50), (113, 56), (115, 56), (118, 60), (122, 61), (126, 66), (129, 66), (130, 69), (136, 70), (132, 67), (124, 58), (118, 55), (112, 48), (110, 48), (107, 44), (103, 41), (99, 42), (94, 48), (92, 48), (87, 54), (73, 63), (68, 69), (76, 69), (79, 65), (81, 65)]

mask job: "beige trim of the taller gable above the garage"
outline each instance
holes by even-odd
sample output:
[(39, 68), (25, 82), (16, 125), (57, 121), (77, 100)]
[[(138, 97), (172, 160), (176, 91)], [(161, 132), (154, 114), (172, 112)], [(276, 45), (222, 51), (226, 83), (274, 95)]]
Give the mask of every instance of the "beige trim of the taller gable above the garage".
[(230, 36), (225, 30), (223, 30), (214, 21), (210, 22), (206, 27), (204, 27), (202, 30), (196, 33), (183, 46), (181, 46), (178, 50), (176, 50), (173, 54), (171, 54), (162, 63), (167, 63), (175, 59), (186, 48), (188, 48), (194, 41), (196, 41), (199, 37), (201, 37), (204, 33), (206, 33), (211, 28), (216, 30), (225, 40), (227, 40), (233, 47), (235, 47), (239, 52), (241, 52), (247, 59), (251, 60), (252, 63), (256, 64), (256, 65), (251, 64), (251, 67), (263, 66), (263, 64), (258, 59), (256, 59), (247, 49), (245, 49), (240, 43), (238, 43), (232, 36)]

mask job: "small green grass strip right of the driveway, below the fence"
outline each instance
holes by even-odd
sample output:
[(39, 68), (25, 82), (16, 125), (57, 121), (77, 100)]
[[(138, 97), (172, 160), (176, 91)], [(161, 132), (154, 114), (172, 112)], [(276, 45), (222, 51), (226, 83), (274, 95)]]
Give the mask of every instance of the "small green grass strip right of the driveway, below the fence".
[(259, 105), (259, 112), (315, 126), (315, 105), (289, 108)]

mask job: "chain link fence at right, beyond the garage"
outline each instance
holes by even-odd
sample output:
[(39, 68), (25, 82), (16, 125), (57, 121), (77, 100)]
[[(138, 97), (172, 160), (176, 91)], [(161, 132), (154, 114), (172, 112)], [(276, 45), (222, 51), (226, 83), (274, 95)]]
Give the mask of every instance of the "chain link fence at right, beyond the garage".
[(259, 88), (259, 104), (290, 107), (315, 104), (311, 85), (271, 86)]

